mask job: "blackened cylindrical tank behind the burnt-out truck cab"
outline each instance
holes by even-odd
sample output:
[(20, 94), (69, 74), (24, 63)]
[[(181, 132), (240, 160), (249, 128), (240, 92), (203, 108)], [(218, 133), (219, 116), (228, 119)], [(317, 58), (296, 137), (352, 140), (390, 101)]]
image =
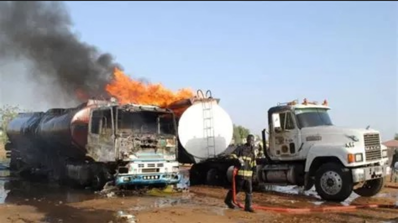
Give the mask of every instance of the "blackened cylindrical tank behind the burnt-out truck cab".
[(89, 100), (76, 108), (20, 113), (7, 127), (11, 148), (32, 165), (43, 165), (54, 155), (62, 160), (84, 159), (90, 110), (105, 103)]

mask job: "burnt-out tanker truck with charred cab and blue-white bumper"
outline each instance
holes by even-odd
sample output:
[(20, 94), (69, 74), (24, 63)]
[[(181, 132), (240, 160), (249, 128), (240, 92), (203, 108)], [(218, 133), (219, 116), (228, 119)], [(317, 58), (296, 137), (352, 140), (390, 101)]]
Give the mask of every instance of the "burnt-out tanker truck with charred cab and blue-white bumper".
[(179, 182), (172, 110), (115, 100), (20, 113), (6, 131), (10, 169), (68, 185), (173, 185)]

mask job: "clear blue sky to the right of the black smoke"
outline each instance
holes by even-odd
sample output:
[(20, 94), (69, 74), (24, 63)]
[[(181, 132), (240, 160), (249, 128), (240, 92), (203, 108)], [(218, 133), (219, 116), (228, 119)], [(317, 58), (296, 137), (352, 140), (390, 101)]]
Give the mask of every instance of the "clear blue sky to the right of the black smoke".
[(398, 132), (394, 2), (67, 2), (82, 40), (133, 77), (211, 89), (259, 134), (277, 102), (328, 99), (336, 125)]

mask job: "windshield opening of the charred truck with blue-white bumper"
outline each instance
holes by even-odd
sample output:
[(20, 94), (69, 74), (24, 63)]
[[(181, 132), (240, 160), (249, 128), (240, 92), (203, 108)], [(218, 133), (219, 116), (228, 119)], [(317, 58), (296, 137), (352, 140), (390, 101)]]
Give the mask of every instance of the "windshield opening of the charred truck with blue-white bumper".
[(129, 134), (175, 135), (172, 113), (118, 110), (118, 132)]

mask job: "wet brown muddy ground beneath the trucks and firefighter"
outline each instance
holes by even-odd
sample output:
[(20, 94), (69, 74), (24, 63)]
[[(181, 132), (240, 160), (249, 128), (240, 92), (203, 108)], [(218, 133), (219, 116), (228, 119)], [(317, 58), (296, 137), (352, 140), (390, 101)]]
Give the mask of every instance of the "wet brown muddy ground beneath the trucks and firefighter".
[[(1, 223), (246, 223), (246, 222), (398, 222), (398, 209), (363, 209), (334, 213), (288, 214), (258, 210), (230, 210), (223, 203), (226, 189), (193, 186), (189, 192), (148, 194), (94, 194), (57, 185), (27, 183), (0, 175)], [(389, 180), (389, 179), (388, 179)], [(398, 183), (388, 183), (398, 186)], [(298, 194), (294, 187), (255, 192), (254, 202), (263, 206), (311, 208), (348, 204), (396, 204), (398, 189), (384, 188), (373, 198), (353, 194), (342, 203), (322, 202), (314, 191)], [(279, 192), (275, 192), (279, 191)], [(238, 196), (244, 200), (244, 194)], [(122, 217), (125, 217), (124, 220)]]

